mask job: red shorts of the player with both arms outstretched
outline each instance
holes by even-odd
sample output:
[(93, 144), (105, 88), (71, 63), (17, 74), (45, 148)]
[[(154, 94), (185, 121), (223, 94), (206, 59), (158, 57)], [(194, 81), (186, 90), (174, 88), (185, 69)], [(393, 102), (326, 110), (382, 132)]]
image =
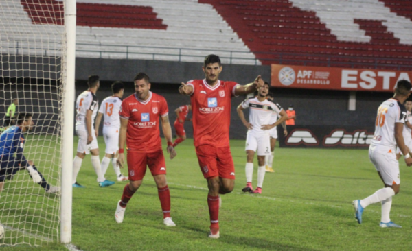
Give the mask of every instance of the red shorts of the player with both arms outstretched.
[(214, 147), (211, 145), (199, 145), (196, 147), (199, 166), (203, 176), (214, 178), (235, 179), (235, 165), (231, 156), (230, 147)]

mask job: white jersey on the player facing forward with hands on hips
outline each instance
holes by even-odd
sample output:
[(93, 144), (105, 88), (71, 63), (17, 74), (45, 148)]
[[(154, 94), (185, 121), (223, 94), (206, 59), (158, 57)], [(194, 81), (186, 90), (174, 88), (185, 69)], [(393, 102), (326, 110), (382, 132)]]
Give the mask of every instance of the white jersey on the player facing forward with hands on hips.
[[(250, 108), (249, 111), (249, 123), (252, 124), (252, 129), (248, 130), (248, 133), (262, 134), (268, 132), (262, 130), (262, 125), (268, 125), (271, 121), (273, 113), (279, 114), (282, 107), (274, 104), (271, 101), (265, 99), (259, 101), (258, 97), (251, 97), (242, 102), (242, 108)], [(273, 122), (275, 123), (275, 122)]]

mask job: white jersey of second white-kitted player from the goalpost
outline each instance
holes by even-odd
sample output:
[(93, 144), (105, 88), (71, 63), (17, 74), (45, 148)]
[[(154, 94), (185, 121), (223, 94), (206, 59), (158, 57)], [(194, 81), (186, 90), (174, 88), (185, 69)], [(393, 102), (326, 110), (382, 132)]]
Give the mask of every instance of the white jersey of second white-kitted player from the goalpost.
[(102, 113), (104, 117), (103, 128), (120, 128), (119, 112), (121, 106), (122, 99), (119, 97), (110, 96), (103, 99), (99, 109), (99, 112)]

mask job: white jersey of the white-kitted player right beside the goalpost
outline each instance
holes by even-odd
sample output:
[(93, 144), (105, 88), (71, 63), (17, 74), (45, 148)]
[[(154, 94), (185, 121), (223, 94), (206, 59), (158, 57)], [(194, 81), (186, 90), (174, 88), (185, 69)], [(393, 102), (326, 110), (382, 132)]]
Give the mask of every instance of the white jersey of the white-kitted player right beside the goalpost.
[(98, 114), (99, 100), (91, 91), (84, 91), (76, 99), (76, 130), (87, 131), (86, 129), (86, 112), (92, 110), (91, 128), (94, 128), (94, 119)]

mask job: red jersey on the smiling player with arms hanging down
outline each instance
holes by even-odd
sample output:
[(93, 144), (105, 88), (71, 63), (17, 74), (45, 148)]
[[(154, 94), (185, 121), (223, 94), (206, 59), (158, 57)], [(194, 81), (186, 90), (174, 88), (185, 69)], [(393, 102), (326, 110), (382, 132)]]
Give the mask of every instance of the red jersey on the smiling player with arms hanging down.
[(159, 118), (168, 115), (166, 99), (149, 92), (146, 101), (140, 100), (135, 93), (122, 102), (120, 117), (128, 119), (126, 147), (140, 152), (161, 150)]

